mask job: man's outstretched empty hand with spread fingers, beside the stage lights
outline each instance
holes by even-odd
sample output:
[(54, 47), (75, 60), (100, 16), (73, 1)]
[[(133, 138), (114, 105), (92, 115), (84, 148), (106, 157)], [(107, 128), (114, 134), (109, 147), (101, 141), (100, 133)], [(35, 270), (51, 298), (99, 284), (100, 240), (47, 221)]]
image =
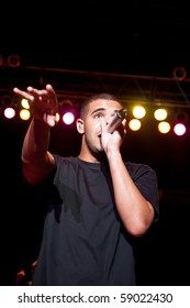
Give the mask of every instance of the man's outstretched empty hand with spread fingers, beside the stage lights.
[(44, 121), (49, 127), (56, 124), (58, 101), (55, 90), (51, 85), (46, 85), (45, 89), (42, 90), (27, 87), (26, 91), (22, 91), (19, 88), (14, 88), (13, 91), (29, 101), (34, 117)]

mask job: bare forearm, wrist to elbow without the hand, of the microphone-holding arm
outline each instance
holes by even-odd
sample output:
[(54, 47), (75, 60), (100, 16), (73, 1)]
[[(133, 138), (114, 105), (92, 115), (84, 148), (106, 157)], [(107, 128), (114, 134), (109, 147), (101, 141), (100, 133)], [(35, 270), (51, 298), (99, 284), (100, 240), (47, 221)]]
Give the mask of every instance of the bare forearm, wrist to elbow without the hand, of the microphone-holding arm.
[[(134, 184), (123, 163), (121, 153), (110, 152), (108, 161), (120, 217), (130, 233), (134, 237), (143, 235), (154, 220), (154, 207), (143, 197)], [(155, 185), (155, 182), (152, 185)], [(152, 190), (155, 191), (155, 189)]]

